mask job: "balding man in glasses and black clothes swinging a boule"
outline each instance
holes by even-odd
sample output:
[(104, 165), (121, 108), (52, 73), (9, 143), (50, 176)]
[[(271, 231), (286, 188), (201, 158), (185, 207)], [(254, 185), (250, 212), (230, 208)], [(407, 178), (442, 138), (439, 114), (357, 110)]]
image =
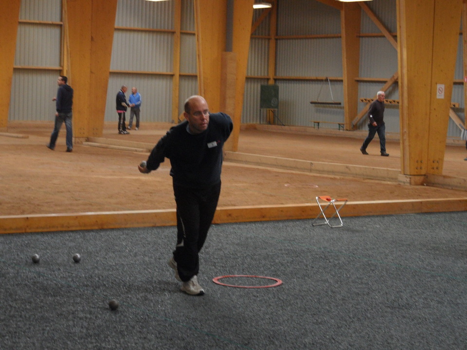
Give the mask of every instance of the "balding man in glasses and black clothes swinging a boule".
[(191, 96), (185, 101), (185, 121), (172, 127), (156, 144), (141, 173), (156, 170), (170, 159), (177, 204), (177, 244), (169, 266), (189, 295), (203, 295), (198, 283), (199, 251), (216, 212), (220, 194), (224, 142), (232, 132), (232, 119), (210, 113), (206, 100)]

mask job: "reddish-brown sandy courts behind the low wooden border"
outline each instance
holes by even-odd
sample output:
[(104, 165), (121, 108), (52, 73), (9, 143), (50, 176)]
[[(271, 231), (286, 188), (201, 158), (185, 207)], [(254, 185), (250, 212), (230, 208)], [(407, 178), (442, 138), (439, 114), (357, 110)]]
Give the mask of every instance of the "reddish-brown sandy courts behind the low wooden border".
[[(115, 125), (114, 125), (115, 124)], [(106, 123), (103, 137), (155, 144), (171, 126), (142, 122), (138, 131), (118, 135), (116, 123)], [(148, 152), (76, 144), (66, 153), (65, 126), (54, 151), (45, 145), (53, 123), (10, 123), (0, 136), (0, 215), (173, 209), (175, 202), (166, 160), (151, 174), (137, 165)], [(354, 134), (349, 134), (354, 133)], [(18, 136), (23, 137), (18, 137)], [(242, 130), (238, 152), (293, 159), (400, 169), (400, 146), (388, 140), (390, 157), (379, 156), (377, 137), (363, 156), (365, 133), (284, 133), (254, 128)], [(466, 177), (466, 149), (446, 148), (443, 175)], [(352, 201), (467, 197), (467, 192), (429, 186), (332, 175), (317, 175), (225, 162), (219, 207), (303, 204), (317, 195)]]

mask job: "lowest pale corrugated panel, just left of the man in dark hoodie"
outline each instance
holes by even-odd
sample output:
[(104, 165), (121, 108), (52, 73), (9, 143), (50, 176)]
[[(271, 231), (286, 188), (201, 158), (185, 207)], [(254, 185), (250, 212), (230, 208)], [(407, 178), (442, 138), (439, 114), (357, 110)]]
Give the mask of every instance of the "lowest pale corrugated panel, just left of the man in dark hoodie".
[[(10, 121), (54, 121), (57, 77), (54, 70), (14, 70), (11, 87)], [(52, 132), (52, 130), (51, 130)]]

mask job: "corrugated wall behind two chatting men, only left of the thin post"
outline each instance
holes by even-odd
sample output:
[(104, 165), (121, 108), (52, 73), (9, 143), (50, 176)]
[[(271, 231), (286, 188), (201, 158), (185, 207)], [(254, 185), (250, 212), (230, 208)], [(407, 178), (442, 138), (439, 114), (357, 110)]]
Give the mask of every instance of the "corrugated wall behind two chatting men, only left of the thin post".
[(174, 34), (151, 29), (174, 30), (174, 1), (119, 0), (115, 26), (124, 28), (113, 37), (105, 120), (117, 125), (115, 96), (126, 85), (127, 98), (131, 87), (142, 96), (142, 124), (170, 122), (172, 75), (158, 73), (173, 72)]

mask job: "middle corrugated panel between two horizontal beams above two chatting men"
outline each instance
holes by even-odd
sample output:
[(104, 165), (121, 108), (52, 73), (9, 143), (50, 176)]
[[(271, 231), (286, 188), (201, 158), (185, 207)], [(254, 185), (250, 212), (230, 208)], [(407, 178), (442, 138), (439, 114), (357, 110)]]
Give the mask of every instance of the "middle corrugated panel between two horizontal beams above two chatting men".
[(116, 30), (110, 70), (172, 72), (173, 34)]

